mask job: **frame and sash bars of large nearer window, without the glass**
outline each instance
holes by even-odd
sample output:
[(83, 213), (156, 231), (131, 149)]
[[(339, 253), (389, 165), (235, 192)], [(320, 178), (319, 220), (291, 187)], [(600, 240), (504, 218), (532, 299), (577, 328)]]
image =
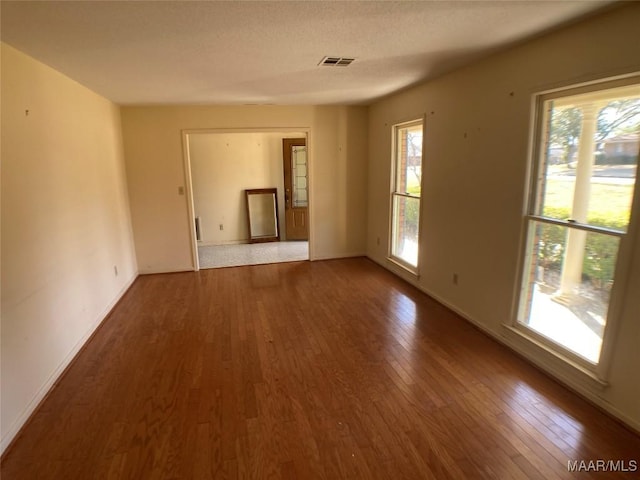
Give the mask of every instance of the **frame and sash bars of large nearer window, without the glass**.
[[(590, 225), (575, 225), (573, 222), (554, 220), (536, 214), (536, 194), (539, 189), (539, 175), (543, 168), (543, 141), (546, 136), (546, 126), (544, 125), (545, 112), (544, 104), (548, 100), (568, 97), (572, 95), (597, 92), (621, 86), (631, 86), (640, 84), (640, 73), (630, 74), (616, 79), (606, 79), (590, 82), (582, 85), (571, 85), (554, 90), (540, 92), (533, 96), (533, 122), (531, 130), (531, 156), (529, 157), (529, 172), (527, 180), (527, 195), (522, 219), (522, 242), (519, 254), (518, 282), (515, 285), (515, 295), (512, 309), (511, 322), (506, 326), (519, 337), (529, 341), (534, 348), (540, 348), (554, 357), (561, 359), (569, 367), (574, 367), (577, 371), (586, 373), (588, 377), (594, 379), (601, 387), (607, 385), (608, 371), (614, 352), (614, 342), (618, 331), (619, 319), (624, 306), (624, 297), (627, 290), (627, 280), (630, 269), (630, 260), (633, 255), (633, 239), (640, 233), (638, 225), (640, 223), (640, 177), (636, 177), (636, 187), (631, 202), (631, 215), (626, 232), (611, 231), (606, 228), (594, 227)], [(637, 174), (636, 174), (637, 175)], [(520, 314), (523, 310), (523, 302), (526, 297), (527, 285), (525, 276), (527, 275), (526, 263), (528, 261), (528, 246), (533, 222), (545, 222), (562, 225), (567, 228), (579, 228), (596, 233), (613, 233), (620, 239), (618, 257), (614, 270), (614, 284), (611, 291), (606, 327), (603, 332), (602, 347), (597, 363), (589, 362), (582, 356), (563, 347), (562, 345), (548, 339), (544, 335), (528, 327), (520, 321)]]

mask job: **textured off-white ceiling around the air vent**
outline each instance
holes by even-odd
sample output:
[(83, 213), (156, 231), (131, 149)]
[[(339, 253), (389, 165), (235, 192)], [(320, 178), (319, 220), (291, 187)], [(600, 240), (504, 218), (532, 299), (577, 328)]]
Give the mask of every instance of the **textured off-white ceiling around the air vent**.
[(119, 104), (366, 104), (608, 3), (3, 0), (1, 38)]

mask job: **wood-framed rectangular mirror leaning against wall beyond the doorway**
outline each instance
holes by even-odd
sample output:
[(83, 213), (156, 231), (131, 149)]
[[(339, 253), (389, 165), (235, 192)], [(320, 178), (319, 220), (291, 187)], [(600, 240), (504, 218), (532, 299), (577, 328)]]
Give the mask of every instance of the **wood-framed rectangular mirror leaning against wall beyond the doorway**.
[(249, 243), (280, 241), (277, 193), (275, 188), (245, 190)]

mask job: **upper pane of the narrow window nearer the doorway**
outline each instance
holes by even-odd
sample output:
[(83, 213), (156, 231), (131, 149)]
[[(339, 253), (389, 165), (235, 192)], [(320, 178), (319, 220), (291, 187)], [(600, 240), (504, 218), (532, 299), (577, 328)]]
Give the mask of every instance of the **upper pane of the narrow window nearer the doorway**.
[(422, 124), (397, 128), (396, 148), (395, 191), (420, 196)]

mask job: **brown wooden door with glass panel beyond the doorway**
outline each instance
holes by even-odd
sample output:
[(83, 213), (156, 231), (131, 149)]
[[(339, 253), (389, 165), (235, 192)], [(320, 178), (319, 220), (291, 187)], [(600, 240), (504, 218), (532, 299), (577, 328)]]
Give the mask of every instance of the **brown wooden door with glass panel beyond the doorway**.
[(287, 240), (309, 239), (309, 188), (307, 142), (304, 138), (282, 139), (284, 167), (284, 212)]

